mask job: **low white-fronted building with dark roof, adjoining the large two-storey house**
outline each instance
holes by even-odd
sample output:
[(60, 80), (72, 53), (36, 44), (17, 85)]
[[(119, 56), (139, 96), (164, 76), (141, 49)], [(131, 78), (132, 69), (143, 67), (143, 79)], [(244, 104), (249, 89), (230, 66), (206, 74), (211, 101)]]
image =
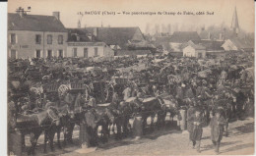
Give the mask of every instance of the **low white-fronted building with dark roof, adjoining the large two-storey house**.
[(67, 57), (113, 57), (114, 51), (85, 28), (68, 28)]

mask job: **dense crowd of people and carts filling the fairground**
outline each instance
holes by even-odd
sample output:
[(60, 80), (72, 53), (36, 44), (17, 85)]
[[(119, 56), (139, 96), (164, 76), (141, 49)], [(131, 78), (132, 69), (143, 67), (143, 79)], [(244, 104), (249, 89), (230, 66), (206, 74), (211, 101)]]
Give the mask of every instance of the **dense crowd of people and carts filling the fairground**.
[[(142, 64), (145, 66), (140, 69)], [(82, 106), (96, 108), (99, 96), (91, 82), (101, 81), (106, 88), (111, 78), (124, 78), (125, 82), (112, 84), (112, 93), (108, 92), (109, 97), (105, 97), (109, 101), (104, 102), (110, 102), (110, 107), (118, 114), (118, 105), (131, 97), (160, 97), (171, 101), (177, 110), (187, 110), (187, 129), (198, 151), (204, 124), (210, 124), (212, 140), (219, 152), (223, 127), (227, 134), (231, 119), (254, 113), (254, 72), (250, 53), (228, 53), (211, 59), (172, 55), (123, 57), (102, 62), (79, 58), (25, 59), (10, 60), (8, 67), (8, 102), (14, 103), (17, 113), (36, 113), (38, 108), (45, 109), (52, 102), (58, 103), (58, 107), (68, 105), (75, 112)], [(101, 71), (85, 72), (88, 67)], [(125, 71), (129, 67), (133, 68)], [(61, 84), (74, 81), (82, 81), (91, 88), (59, 89)], [(55, 90), (47, 91), (55, 85)], [(72, 137), (72, 132), (69, 136)]]

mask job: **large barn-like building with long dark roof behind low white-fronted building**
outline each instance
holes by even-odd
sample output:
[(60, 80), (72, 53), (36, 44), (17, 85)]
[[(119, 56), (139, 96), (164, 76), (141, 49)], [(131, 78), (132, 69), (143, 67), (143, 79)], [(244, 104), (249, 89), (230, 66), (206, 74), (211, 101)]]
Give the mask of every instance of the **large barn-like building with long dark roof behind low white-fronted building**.
[(129, 43), (145, 41), (139, 27), (86, 27), (86, 30), (113, 50), (126, 50)]

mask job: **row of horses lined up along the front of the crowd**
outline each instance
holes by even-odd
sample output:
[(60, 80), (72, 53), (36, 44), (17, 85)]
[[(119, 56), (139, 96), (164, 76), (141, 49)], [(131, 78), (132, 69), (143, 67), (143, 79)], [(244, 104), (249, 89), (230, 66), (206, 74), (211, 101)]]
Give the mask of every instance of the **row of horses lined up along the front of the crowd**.
[[(154, 119), (157, 115), (156, 125), (160, 128), (164, 125), (167, 112), (171, 113), (172, 117), (178, 112), (174, 105), (167, 106), (162, 98), (153, 96), (146, 98), (130, 97), (117, 105), (97, 105), (96, 107), (85, 104), (74, 105), (48, 102), (44, 109), (37, 108), (25, 115), (18, 113), (13, 104), (14, 109), (9, 111), (9, 130), (10, 132), (18, 131), (21, 133), (23, 149), (28, 149), (28, 154), (32, 154), (42, 132), (44, 132), (44, 152), (47, 152), (47, 142), (49, 142), (50, 149), (54, 150), (55, 133), (57, 133), (59, 148), (67, 143), (73, 143), (72, 134), (76, 125), (80, 126), (80, 130), (83, 130), (80, 131), (80, 145), (86, 142), (88, 146), (96, 146), (99, 141), (104, 143), (108, 140), (110, 131), (113, 132), (115, 139), (127, 137), (132, 132), (129, 120), (134, 117), (142, 117), (144, 131), (148, 117), (151, 117), (151, 126), (154, 128)], [(9, 106), (11, 108), (12, 104)], [(101, 129), (98, 129), (99, 127)], [(100, 137), (97, 133), (98, 130), (101, 132)], [(60, 142), (62, 131), (64, 134), (63, 144)], [(27, 134), (30, 134), (31, 146), (29, 148), (25, 148), (25, 135)]]

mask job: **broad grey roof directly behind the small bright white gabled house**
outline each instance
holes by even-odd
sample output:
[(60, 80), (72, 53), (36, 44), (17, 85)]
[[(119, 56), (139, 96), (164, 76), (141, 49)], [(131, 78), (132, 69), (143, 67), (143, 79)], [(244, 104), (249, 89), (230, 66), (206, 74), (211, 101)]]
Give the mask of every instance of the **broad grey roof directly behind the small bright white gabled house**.
[(175, 31), (171, 35), (170, 42), (184, 43), (189, 40), (200, 41), (197, 31)]

